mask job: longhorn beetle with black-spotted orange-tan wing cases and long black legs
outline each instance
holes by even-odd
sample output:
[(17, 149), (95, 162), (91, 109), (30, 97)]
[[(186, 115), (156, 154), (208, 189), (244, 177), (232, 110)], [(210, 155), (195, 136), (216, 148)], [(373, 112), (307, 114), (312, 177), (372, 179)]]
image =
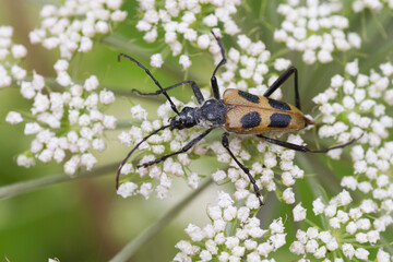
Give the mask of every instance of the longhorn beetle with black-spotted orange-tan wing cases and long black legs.
[[(255, 136), (276, 145), (281, 145), (283, 147), (300, 151), (300, 152), (311, 152), (311, 153), (325, 153), (331, 150), (341, 148), (354, 143), (358, 139), (350, 140), (349, 142), (336, 146), (332, 146), (329, 148), (322, 150), (310, 150), (302, 145), (297, 145), (293, 143), (288, 143), (285, 141), (279, 141), (275, 139), (271, 139), (264, 136), (262, 133), (265, 132), (290, 132), (297, 131), (306, 128), (309, 124), (314, 124), (314, 122), (308, 119), (303, 112), (300, 110), (300, 98), (298, 91), (298, 73), (295, 67), (288, 68), (278, 79), (267, 88), (267, 91), (263, 94), (263, 96), (253, 95), (247, 92), (242, 92), (235, 88), (228, 88), (223, 94), (223, 99), (221, 98), (217, 79), (215, 76), (217, 70), (226, 63), (225, 58), (225, 49), (223, 43), (219, 37), (217, 37), (212, 31), (214, 38), (217, 40), (222, 60), (216, 66), (213, 71), (213, 75), (211, 78), (211, 84), (213, 90), (214, 98), (205, 100), (200, 87), (196, 85), (194, 81), (183, 81), (178, 84), (171, 85), (169, 87), (163, 88), (159, 82), (153, 76), (153, 74), (146, 69), (143, 64), (136, 61), (134, 58), (126, 55), (119, 53), (118, 61), (120, 61), (121, 57), (128, 58), (132, 62), (135, 62), (140, 68), (142, 68), (146, 74), (154, 81), (154, 83), (158, 86), (158, 91), (155, 93), (142, 93), (140, 91), (133, 90), (141, 96), (155, 96), (164, 94), (168, 99), (171, 109), (176, 112), (176, 116), (170, 119), (169, 123), (163, 126), (162, 128), (153, 131), (145, 138), (143, 138), (126, 156), (126, 158), (121, 162), (119, 169), (117, 171), (116, 178), (116, 188), (119, 187), (119, 176), (121, 168), (124, 166), (126, 162), (129, 157), (134, 153), (134, 151), (148, 138), (153, 134), (158, 133), (159, 131), (169, 128), (170, 130), (181, 130), (189, 129), (194, 126), (200, 126), (206, 128), (200, 135), (192, 139), (188, 142), (180, 151), (174, 152), (167, 155), (164, 155), (155, 160), (144, 163), (138, 167), (148, 167), (154, 164), (160, 163), (166, 158), (184, 153), (189, 151), (192, 146), (194, 146), (199, 141), (201, 141), (204, 136), (206, 136), (213, 129), (223, 128), (224, 133), (222, 135), (222, 144), (227, 150), (229, 155), (234, 158), (236, 164), (245, 171), (245, 174), (249, 177), (253, 190), (255, 192), (257, 198), (259, 199), (260, 204), (263, 202), (261, 200), (261, 192), (255, 183), (254, 178), (250, 174), (250, 169), (242, 165), (234, 155), (234, 153), (229, 148), (228, 135), (229, 133), (237, 134), (255, 134)], [(269, 98), (270, 95), (273, 94), (290, 75), (295, 74), (295, 106), (289, 105), (287, 103), (281, 100), (274, 100)], [(167, 92), (183, 85), (189, 84), (192, 88), (192, 92), (195, 95), (196, 102), (199, 104), (198, 107), (184, 107), (179, 112), (176, 108), (174, 102), (168, 96)]]

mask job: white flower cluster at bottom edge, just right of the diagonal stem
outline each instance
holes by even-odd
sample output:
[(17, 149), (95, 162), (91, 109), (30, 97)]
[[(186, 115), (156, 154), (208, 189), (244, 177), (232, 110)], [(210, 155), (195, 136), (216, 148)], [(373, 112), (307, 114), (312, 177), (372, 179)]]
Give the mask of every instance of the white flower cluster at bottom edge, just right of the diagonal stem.
[[(278, 218), (262, 229), (250, 213), (246, 206), (236, 207), (229, 194), (218, 192), (217, 205), (207, 207), (212, 224), (203, 228), (190, 224), (186, 233), (191, 241), (176, 245), (180, 252), (174, 261), (275, 261), (267, 257), (286, 243), (283, 221)], [(229, 235), (228, 228), (236, 231)]]

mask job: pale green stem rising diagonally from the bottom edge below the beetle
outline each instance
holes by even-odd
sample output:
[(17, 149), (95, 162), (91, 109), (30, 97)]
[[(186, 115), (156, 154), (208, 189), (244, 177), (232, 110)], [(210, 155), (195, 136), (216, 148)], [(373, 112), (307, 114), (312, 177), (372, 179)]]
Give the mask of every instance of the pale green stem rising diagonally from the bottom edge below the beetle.
[(190, 193), (186, 199), (175, 205), (169, 212), (164, 214), (154, 224), (147, 227), (135, 239), (131, 240), (126, 247), (117, 253), (110, 262), (129, 261), (129, 259), (138, 251), (138, 249), (144, 245), (148, 239), (155, 236), (160, 229), (168, 225), (179, 213), (182, 211), (195, 196), (198, 196), (204, 189), (212, 183), (212, 179), (209, 179), (201, 187)]

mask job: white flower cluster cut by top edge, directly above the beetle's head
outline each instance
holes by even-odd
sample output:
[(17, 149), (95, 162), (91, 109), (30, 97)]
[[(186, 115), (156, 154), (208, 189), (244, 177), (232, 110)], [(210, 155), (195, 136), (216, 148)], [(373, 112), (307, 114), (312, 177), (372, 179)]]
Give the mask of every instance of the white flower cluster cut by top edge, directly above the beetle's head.
[[(182, 52), (184, 40), (192, 45), (196, 44), (200, 49), (207, 49), (214, 41), (210, 35), (211, 28), (222, 26), (228, 35), (240, 32), (231, 15), (236, 13), (237, 5), (241, 2), (241, 0), (165, 0), (163, 4), (154, 0), (139, 0), (143, 19), (138, 22), (136, 28), (145, 32), (143, 39), (147, 43), (164, 38), (172, 56)], [(198, 19), (201, 16), (203, 19)], [(160, 35), (163, 37), (158, 37)], [(160, 67), (162, 63), (155, 62), (159, 58), (159, 53), (152, 57), (152, 67)], [(191, 66), (187, 55), (180, 57), (179, 63), (184, 70)]]

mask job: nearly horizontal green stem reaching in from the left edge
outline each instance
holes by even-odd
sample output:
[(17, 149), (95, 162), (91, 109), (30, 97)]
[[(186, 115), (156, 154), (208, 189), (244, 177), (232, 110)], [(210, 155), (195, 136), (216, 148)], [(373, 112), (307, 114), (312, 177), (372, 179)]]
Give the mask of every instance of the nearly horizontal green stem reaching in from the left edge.
[[(71, 178), (64, 172), (51, 175), (43, 178), (32, 179), (23, 182), (16, 182), (10, 186), (4, 186), (0, 188), (0, 199), (12, 198), (22, 193), (41, 189), (51, 184), (57, 184), (61, 182), (72, 181), (81, 178), (98, 177), (109, 172), (115, 172), (119, 167), (119, 163), (108, 164), (94, 168), (91, 171), (82, 171), (78, 177)], [(114, 180), (115, 184), (115, 180)], [(114, 186), (115, 188), (115, 186)]]

